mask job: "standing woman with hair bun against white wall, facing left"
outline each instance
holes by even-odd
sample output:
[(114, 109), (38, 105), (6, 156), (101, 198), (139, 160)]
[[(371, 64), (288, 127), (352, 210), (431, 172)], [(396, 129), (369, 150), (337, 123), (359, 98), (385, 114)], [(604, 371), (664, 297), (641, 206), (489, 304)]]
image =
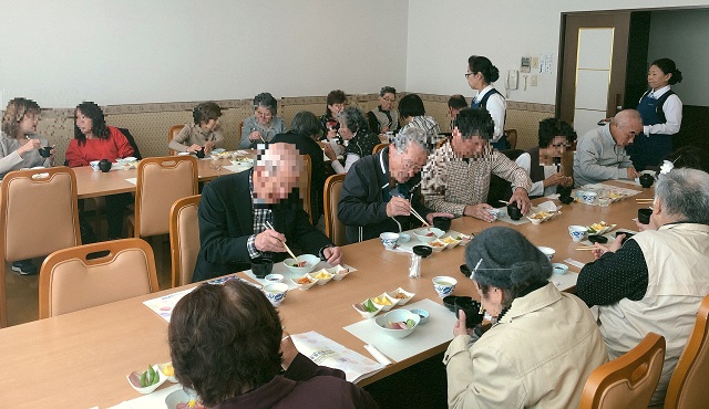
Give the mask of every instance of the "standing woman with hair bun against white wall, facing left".
[(470, 104), (471, 108), (485, 108), (492, 116), (492, 120), (495, 123), (495, 132), (490, 139), (492, 147), (497, 150), (510, 149), (507, 138), (505, 138), (505, 112), (507, 104), (504, 96), (495, 90), (492, 85), (500, 78), (500, 70), (492, 64), (492, 62), (481, 55), (471, 55), (467, 59), (467, 85), (474, 91), (477, 91), (477, 95)]

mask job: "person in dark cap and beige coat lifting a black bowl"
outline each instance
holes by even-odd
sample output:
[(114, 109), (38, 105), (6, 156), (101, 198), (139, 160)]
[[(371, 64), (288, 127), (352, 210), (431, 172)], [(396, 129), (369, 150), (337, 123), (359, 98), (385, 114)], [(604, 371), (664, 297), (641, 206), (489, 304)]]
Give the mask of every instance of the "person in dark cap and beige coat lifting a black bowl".
[(467, 328), (460, 312), (443, 359), (449, 407), (578, 407), (586, 379), (607, 361), (590, 311), (548, 282), (549, 260), (516, 230), (484, 230), (465, 264), (492, 326)]

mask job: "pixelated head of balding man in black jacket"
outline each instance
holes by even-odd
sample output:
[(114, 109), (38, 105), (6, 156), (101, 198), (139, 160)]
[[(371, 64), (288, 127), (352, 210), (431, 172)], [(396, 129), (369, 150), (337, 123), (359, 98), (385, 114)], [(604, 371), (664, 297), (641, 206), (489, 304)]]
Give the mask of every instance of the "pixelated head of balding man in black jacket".
[(254, 167), (254, 193), (260, 203), (276, 204), (298, 186), (302, 158), (295, 145), (269, 146)]

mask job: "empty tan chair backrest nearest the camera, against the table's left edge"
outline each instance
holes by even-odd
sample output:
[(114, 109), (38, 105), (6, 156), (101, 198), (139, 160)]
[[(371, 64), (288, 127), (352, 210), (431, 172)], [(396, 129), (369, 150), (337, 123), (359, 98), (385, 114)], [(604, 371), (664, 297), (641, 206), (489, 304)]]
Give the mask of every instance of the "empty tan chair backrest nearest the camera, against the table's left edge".
[(40, 270), (40, 319), (158, 290), (153, 249), (141, 239), (59, 250)]

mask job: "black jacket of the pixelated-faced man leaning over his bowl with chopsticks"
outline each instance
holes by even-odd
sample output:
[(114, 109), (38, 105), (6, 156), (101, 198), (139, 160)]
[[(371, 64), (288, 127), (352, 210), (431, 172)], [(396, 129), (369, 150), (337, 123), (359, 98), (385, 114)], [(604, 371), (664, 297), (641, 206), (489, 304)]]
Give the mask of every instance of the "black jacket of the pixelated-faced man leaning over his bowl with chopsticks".
[[(254, 216), (248, 178), (253, 170), (223, 176), (207, 183), (199, 201), (199, 254), (193, 282), (249, 270), (250, 258), (246, 242), (254, 234)], [(322, 232), (308, 220), (302, 208), (275, 206), (274, 228), (296, 243), (307, 254), (319, 255), (332, 245)], [(271, 253), (274, 261), (287, 253)]]

